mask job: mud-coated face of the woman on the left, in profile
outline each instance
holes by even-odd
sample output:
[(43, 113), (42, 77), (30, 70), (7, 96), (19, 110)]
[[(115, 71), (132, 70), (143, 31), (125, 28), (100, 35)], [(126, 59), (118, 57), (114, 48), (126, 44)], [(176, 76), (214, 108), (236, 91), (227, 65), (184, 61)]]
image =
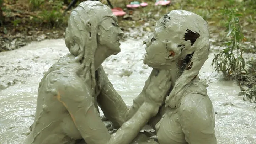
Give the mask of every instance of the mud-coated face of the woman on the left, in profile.
[(112, 54), (117, 54), (121, 50), (119, 41), (122, 36), (123, 31), (120, 29), (117, 21), (106, 17), (99, 26), (98, 45), (106, 47)]

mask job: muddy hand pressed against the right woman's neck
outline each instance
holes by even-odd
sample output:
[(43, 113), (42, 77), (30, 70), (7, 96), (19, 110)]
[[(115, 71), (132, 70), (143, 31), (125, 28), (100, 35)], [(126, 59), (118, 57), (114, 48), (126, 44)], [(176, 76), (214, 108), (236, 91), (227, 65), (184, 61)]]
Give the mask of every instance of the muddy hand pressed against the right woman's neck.
[(153, 69), (149, 80), (144, 87), (146, 97), (161, 106), (171, 87), (171, 74), (169, 70)]

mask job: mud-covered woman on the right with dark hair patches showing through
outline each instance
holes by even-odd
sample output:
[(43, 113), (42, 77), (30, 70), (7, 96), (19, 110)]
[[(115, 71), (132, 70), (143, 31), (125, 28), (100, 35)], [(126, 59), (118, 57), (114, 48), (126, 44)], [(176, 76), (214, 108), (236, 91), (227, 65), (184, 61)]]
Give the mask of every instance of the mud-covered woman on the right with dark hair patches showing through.
[[(207, 84), (198, 74), (208, 59), (208, 25), (185, 10), (172, 10), (157, 22), (144, 41), (144, 64), (171, 71), (171, 92), (149, 124), (160, 144), (217, 144), (213, 105)], [(147, 99), (139, 95), (127, 112), (129, 119)]]

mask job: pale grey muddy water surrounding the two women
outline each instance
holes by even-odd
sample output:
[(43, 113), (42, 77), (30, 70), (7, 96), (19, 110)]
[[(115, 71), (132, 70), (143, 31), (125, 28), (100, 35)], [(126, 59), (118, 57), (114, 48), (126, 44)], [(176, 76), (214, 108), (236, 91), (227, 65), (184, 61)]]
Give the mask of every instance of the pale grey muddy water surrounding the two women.
[[(151, 68), (143, 65), (142, 41), (121, 42), (121, 53), (103, 63), (110, 81), (127, 105), (142, 90)], [(28, 134), (36, 110), (38, 83), (43, 73), (65, 55), (64, 40), (35, 42), (21, 49), (0, 53), (0, 144), (20, 144)], [(208, 82), (208, 95), (216, 113), (219, 144), (256, 144), (255, 105), (237, 96), (234, 82), (220, 81), (212, 73), (213, 54), (200, 77)]]

